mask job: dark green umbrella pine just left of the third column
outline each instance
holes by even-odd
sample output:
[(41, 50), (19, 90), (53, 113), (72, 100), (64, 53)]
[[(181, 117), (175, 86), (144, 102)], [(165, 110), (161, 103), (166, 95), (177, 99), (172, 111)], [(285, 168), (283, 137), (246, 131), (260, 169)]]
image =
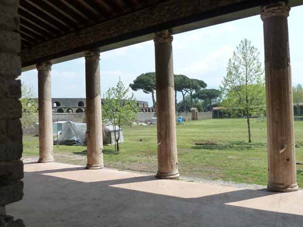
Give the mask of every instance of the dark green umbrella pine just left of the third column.
[(153, 107), (155, 107), (156, 75), (155, 72), (143, 73), (139, 75), (133, 84), (129, 84), (132, 90), (143, 90), (144, 93), (151, 93)]

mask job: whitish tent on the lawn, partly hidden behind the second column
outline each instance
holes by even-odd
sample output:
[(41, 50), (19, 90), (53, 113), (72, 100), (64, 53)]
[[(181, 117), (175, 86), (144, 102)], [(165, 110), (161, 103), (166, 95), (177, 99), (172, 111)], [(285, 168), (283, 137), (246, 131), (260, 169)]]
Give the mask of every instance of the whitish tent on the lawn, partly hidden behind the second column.
[[(120, 130), (119, 143), (123, 143), (122, 129), (116, 127), (116, 136), (118, 137), (118, 130)], [(103, 144), (114, 145), (115, 133), (112, 126), (102, 125)], [(54, 140), (54, 144), (57, 141)], [(58, 136), (58, 144), (62, 145), (84, 145), (86, 144), (86, 123), (75, 123), (72, 121), (66, 121), (64, 123), (62, 132)]]

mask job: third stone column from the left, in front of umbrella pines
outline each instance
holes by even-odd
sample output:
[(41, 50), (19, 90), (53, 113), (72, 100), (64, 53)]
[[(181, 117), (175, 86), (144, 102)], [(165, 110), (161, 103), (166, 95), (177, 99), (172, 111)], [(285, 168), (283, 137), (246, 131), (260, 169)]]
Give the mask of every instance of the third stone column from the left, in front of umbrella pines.
[(156, 177), (179, 177), (175, 117), (175, 88), (171, 42), (168, 30), (155, 34), (158, 173)]

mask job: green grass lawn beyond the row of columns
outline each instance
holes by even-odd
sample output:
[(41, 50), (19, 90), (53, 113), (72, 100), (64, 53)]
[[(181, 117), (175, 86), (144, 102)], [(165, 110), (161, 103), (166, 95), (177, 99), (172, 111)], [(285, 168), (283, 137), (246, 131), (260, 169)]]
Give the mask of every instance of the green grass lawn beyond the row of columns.
[[(266, 121), (251, 119), (252, 143), (246, 119), (207, 119), (177, 125), (178, 166), (182, 176), (267, 184)], [(115, 152), (104, 146), (104, 164), (117, 169), (157, 171), (156, 126), (123, 128), (124, 143)], [(303, 121), (295, 121), (296, 159), (303, 162)], [(23, 156), (38, 155), (38, 137), (24, 136)], [(198, 144), (198, 145), (196, 145)], [(55, 160), (86, 164), (85, 146), (54, 146)], [(303, 187), (303, 165), (297, 165)]]

